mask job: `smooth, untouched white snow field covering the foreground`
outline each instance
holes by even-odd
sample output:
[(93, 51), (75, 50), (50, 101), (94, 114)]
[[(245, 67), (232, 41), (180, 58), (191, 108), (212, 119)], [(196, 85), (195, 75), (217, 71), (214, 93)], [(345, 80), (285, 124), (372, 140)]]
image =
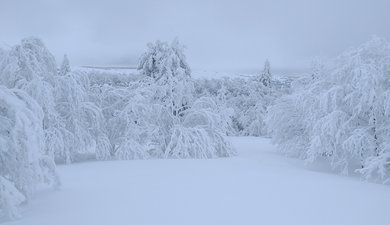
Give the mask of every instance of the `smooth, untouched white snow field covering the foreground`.
[(232, 138), (239, 156), (59, 166), (63, 185), (41, 190), (9, 225), (390, 224), (390, 188), (321, 172)]

